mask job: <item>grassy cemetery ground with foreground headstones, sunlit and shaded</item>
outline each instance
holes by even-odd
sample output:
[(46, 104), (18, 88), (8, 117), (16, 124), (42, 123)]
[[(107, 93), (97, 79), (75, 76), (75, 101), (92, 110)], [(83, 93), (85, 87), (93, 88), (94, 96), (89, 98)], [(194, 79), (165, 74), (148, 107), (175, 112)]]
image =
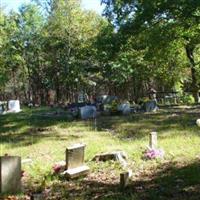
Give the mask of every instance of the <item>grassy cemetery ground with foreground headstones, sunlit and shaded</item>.
[(198, 106), (98, 116), (96, 128), (93, 118), (42, 115), (51, 110), (23, 107), (0, 117), (2, 196), (198, 198)]

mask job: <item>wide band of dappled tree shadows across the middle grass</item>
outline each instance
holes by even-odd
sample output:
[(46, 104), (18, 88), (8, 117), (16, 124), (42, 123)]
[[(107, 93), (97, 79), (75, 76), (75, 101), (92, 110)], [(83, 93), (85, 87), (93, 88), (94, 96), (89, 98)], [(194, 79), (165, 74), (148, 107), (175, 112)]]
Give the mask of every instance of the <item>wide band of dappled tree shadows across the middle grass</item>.
[[(140, 140), (147, 137), (151, 131), (157, 131), (160, 137), (170, 131), (170, 135), (176, 131), (187, 132), (188, 135), (200, 135), (200, 130), (195, 122), (200, 114), (197, 107), (193, 108), (162, 108), (157, 113), (136, 113), (130, 116), (102, 116), (97, 119), (98, 131), (108, 131), (119, 139)], [(35, 144), (43, 138), (70, 139), (59, 136), (56, 131), (39, 131), (39, 129), (51, 128), (55, 125), (65, 127), (72, 121), (68, 114), (56, 114), (55, 109), (40, 108), (29, 109), (18, 114), (0, 116), (0, 143), (11, 143), (12, 146), (28, 146)], [(75, 121), (76, 122), (76, 121)], [(78, 123), (80, 120), (77, 121)], [(95, 130), (94, 120), (82, 121), (83, 126)], [(31, 130), (36, 130), (33, 134)], [(69, 136), (69, 137), (67, 137)], [(76, 138), (79, 136), (76, 136)], [(80, 135), (81, 137), (81, 135)], [(76, 139), (75, 137), (71, 139)]]

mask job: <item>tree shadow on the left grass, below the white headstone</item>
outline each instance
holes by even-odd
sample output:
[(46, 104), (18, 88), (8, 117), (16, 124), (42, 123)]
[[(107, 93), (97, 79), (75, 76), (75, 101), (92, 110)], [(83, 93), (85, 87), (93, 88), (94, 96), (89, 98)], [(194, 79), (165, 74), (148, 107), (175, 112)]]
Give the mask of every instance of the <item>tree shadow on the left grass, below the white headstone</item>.
[[(71, 121), (67, 114), (44, 116), (51, 109), (26, 110), (0, 116), (0, 143), (15, 146), (29, 146), (43, 138), (67, 140), (51, 127)], [(70, 139), (69, 137), (68, 139)]]

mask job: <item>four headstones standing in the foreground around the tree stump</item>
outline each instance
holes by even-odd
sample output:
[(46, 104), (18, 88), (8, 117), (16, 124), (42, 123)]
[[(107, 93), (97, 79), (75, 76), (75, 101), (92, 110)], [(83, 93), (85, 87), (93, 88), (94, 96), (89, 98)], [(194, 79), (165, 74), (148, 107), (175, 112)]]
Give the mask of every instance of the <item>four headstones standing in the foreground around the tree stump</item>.
[[(157, 146), (157, 133), (150, 133), (150, 148)], [(64, 175), (73, 179), (89, 172), (89, 167), (84, 164), (84, 144), (76, 144), (66, 149), (66, 170)], [(120, 185), (126, 187), (129, 172), (120, 174)], [(18, 193), (21, 191), (21, 157), (0, 156), (0, 193)]]

